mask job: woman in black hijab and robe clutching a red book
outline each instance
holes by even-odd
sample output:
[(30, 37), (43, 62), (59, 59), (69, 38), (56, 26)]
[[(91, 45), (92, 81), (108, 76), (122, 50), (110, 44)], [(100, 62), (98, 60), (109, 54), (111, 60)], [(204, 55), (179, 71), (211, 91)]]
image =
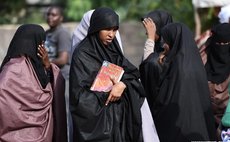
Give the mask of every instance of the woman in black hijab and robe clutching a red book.
[[(70, 110), (74, 142), (143, 141), (141, 106), (144, 89), (137, 68), (123, 56), (119, 47), (115, 37), (118, 28), (119, 17), (112, 9), (95, 9), (88, 35), (73, 53)], [(103, 36), (103, 33), (107, 35)], [(124, 75), (110, 92), (91, 91), (104, 60), (121, 66)]]

